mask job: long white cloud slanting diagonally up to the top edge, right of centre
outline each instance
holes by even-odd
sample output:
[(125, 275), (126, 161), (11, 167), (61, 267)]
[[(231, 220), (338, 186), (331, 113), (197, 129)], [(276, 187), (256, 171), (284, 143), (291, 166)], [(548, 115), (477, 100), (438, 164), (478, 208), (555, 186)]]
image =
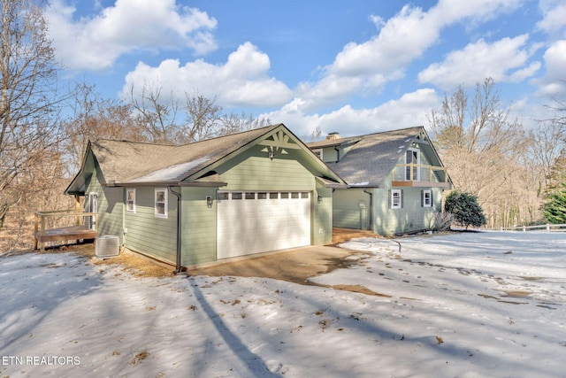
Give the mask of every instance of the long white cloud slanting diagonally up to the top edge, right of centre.
[(353, 93), (376, 91), (388, 81), (404, 76), (404, 70), (439, 41), (443, 27), (465, 21), (467, 25), (494, 19), (516, 9), (519, 0), (440, 0), (424, 12), (405, 5), (391, 19), (373, 15), (379, 33), (366, 42), (350, 42), (324, 67), (316, 82), (302, 82), (298, 93), (328, 104)]

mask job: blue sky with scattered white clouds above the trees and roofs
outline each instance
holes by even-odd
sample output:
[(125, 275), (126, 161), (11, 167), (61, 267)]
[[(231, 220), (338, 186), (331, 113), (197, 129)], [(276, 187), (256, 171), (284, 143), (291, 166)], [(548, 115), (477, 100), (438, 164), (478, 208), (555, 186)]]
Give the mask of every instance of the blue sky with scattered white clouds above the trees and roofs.
[(486, 77), (527, 126), (566, 99), (565, 0), (53, 0), (46, 15), (65, 76), (104, 96), (218, 96), (299, 136), (426, 126)]

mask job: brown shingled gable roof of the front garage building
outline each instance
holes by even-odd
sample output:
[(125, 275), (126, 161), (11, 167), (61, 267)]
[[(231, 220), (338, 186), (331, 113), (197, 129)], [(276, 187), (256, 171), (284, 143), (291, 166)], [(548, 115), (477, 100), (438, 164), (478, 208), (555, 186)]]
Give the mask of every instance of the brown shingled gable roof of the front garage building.
[[(281, 131), (284, 130), (284, 131)], [(85, 159), (79, 174), (75, 176), (67, 194), (81, 194), (84, 191), (86, 158), (91, 153), (100, 166), (103, 184), (123, 186), (126, 184), (163, 185), (226, 185), (218, 174), (210, 172), (210, 166), (224, 158), (240, 153), (248, 147), (272, 137), (274, 133), (291, 135), (294, 148), (308, 151), (311, 158), (317, 159), (306, 145), (294, 136), (283, 124), (260, 127), (233, 135), (221, 136), (184, 145), (137, 143), (128, 141), (99, 140), (88, 143)], [(267, 143), (267, 142), (263, 142)], [(283, 142), (281, 142), (283, 143)], [(334, 181), (344, 183), (322, 161), (322, 171), (328, 171)]]

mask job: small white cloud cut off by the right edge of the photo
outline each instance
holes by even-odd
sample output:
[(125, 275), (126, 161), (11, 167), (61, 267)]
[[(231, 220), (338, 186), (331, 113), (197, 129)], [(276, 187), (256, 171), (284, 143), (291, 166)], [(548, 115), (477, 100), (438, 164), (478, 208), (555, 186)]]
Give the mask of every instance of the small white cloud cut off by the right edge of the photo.
[(545, 77), (533, 81), (539, 84), (538, 96), (566, 98), (566, 40), (556, 41), (550, 45), (544, 55)]

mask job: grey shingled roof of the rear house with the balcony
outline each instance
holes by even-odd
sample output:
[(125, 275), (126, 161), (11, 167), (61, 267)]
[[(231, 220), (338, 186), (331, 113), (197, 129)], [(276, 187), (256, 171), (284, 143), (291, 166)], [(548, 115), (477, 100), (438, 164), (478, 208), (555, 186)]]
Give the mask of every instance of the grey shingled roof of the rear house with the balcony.
[[(399, 158), (418, 138), (428, 135), (424, 127), (408, 127), (381, 133), (351, 136), (317, 143), (309, 143), (310, 149), (354, 145), (339, 162), (326, 162), (348, 185), (365, 188), (383, 188), (384, 180), (394, 169)], [(430, 143), (430, 141), (429, 141)], [(436, 151), (431, 148), (440, 163)], [(440, 163), (441, 164), (441, 163)]]

